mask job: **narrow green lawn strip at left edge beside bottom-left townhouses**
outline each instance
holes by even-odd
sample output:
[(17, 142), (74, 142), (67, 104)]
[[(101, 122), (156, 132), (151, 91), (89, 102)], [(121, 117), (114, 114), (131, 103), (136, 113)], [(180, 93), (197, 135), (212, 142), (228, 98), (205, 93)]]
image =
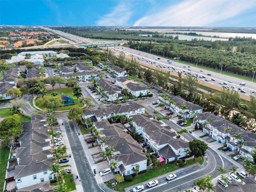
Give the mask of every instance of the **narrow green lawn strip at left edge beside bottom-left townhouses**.
[(10, 149), (7, 146), (0, 147), (0, 189), (4, 188), (4, 179), (6, 173), (6, 166)]

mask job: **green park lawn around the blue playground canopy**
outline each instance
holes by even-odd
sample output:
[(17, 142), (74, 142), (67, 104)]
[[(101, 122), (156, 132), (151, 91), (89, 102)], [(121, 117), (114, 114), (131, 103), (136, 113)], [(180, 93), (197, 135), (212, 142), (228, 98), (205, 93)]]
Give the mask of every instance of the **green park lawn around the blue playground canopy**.
[[(58, 88), (58, 89), (54, 89), (54, 90), (47, 90), (47, 94), (51, 94), (52, 92), (57, 92), (58, 95), (56, 96), (52, 96), (52, 97), (60, 97), (62, 94), (64, 93), (64, 95), (68, 95), (71, 96), (73, 98), (73, 90), (71, 88)], [(78, 104), (78, 99), (77, 98), (73, 98), (73, 101), (75, 104)], [(40, 103), (40, 101), (38, 101), (38, 98), (36, 98), (36, 106), (38, 106), (41, 109), (44, 109), (45, 107), (42, 105), (42, 103)], [(75, 105), (67, 105), (67, 106), (62, 106), (62, 107), (58, 107), (56, 112), (58, 111), (63, 111), (63, 110), (70, 110), (71, 108), (73, 108)]]

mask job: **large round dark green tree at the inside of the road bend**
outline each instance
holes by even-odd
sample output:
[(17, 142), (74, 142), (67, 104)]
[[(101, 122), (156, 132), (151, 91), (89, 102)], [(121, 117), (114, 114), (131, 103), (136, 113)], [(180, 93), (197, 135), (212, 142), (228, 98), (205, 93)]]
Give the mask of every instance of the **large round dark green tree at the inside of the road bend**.
[(208, 146), (205, 142), (193, 139), (188, 143), (190, 148), (190, 155), (194, 156), (194, 160), (198, 157), (203, 157), (208, 149)]

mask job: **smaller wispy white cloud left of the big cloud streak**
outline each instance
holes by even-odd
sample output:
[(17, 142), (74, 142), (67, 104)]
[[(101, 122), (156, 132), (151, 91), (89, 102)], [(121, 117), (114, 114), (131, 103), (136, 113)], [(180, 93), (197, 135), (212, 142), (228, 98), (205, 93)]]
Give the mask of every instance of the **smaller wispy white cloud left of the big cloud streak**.
[(132, 15), (129, 6), (123, 2), (111, 9), (111, 13), (105, 14), (96, 21), (97, 26), (125, 26)]

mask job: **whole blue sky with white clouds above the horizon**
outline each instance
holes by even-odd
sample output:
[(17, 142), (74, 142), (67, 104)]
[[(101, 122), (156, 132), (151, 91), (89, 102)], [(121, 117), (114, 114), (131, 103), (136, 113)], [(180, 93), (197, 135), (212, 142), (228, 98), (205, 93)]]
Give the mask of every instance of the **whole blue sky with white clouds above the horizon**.
[(256, 0), (0, 0), (0, 24), (256, 27)]

